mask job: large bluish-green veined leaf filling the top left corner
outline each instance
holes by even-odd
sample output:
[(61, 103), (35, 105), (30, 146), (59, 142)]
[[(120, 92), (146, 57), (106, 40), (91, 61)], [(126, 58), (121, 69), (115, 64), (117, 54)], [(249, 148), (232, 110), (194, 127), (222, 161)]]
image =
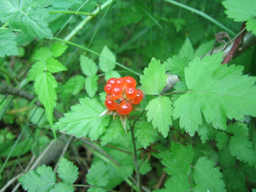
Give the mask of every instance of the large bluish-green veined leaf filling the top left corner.
[(9, 26), (21, 31), (31, 37), (52, 38), (52, 33), (47, 28), (45, 20), (49, 13), (44, 4), (33, 3), (33, 0), (19, 3), (13, 0), (3, 0), (0, 2), (0, 20)]

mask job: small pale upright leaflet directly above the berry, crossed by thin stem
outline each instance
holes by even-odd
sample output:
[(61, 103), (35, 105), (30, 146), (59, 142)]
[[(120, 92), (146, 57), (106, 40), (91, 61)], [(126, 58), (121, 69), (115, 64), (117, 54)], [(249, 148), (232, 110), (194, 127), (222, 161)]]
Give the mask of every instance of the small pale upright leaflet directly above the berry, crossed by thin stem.
[[(99, 58), (99, 65), (100, 69), (107, 73), (111, 70), (113, 70), (116, 66), (116, 56), (113, 52), (111, 52), (108, 47), (105, 45), (100, 52), (100, 58)], [(106, 59), (105, 59), (106, 58)]]

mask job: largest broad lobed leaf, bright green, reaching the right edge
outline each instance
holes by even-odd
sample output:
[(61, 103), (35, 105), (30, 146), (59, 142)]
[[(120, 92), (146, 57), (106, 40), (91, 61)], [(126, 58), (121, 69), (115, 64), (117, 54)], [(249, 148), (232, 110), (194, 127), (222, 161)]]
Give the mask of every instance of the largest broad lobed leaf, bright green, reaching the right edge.
[(242, 75), (241, 66), (227, 67), (221, 61), (222, 54), (217, 53), (202, 61), (195, 58), (185, 68), (189, 91), (174, 102), (173, 118), (180, 118), (180, 127), (190, 135), (202, 124), (201, 112), (207, 123), (223, 130), (227, 117), (243, 121), (243, 115), (256, 116), (256, 78)]

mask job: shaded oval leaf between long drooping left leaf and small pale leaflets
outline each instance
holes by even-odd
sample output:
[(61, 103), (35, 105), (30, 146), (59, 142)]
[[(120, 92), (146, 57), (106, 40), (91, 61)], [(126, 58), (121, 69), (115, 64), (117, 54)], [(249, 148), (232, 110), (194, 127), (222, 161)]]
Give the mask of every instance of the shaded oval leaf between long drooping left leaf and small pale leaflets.
[(58, 87), (57, 90), (61, 93), (70, 93), (76, 95), (83, 89), (84, 83), (84, 77), (82, 75), (76, 75), (69, 78), (68, 81), (64, 85)]

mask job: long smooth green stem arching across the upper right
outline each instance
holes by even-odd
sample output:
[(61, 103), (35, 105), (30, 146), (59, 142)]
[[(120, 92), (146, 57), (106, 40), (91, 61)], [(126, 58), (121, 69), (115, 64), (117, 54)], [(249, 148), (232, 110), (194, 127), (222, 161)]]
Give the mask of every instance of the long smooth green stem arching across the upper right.
[(233, 36), (236, 36), (236, 34), (234, 33), (233, 30), (227, 28), (226, 26), (222, 25), (222, 23), (220, 23), (219, 21), (215, 20), (214, 18), (210, 17), (209, 15), (205, 14), (204, 12), (202, 11), (199, 11), (197, 9), (194, 9), (193, 7), (190, 7), (190, 6), (187, 6), (185, 4), (182, 4), (182, 3), (179, 3), (179, 2), (175, 2), (173, 0), (164, 0), (168, 3), (171, 3), (173, 5), (177, 5), (179, 7), (182, 7), (183, 9), (186, 9), (186, 10), (189, 10), (191, 12), (194, 12), (198, 15), (201, 15), (203, 18), (213, 22), (215, 25), (219, 26), (220, 28), (222, 28), (223, 30), (227, 31), (229, 34), (233, 35)]

